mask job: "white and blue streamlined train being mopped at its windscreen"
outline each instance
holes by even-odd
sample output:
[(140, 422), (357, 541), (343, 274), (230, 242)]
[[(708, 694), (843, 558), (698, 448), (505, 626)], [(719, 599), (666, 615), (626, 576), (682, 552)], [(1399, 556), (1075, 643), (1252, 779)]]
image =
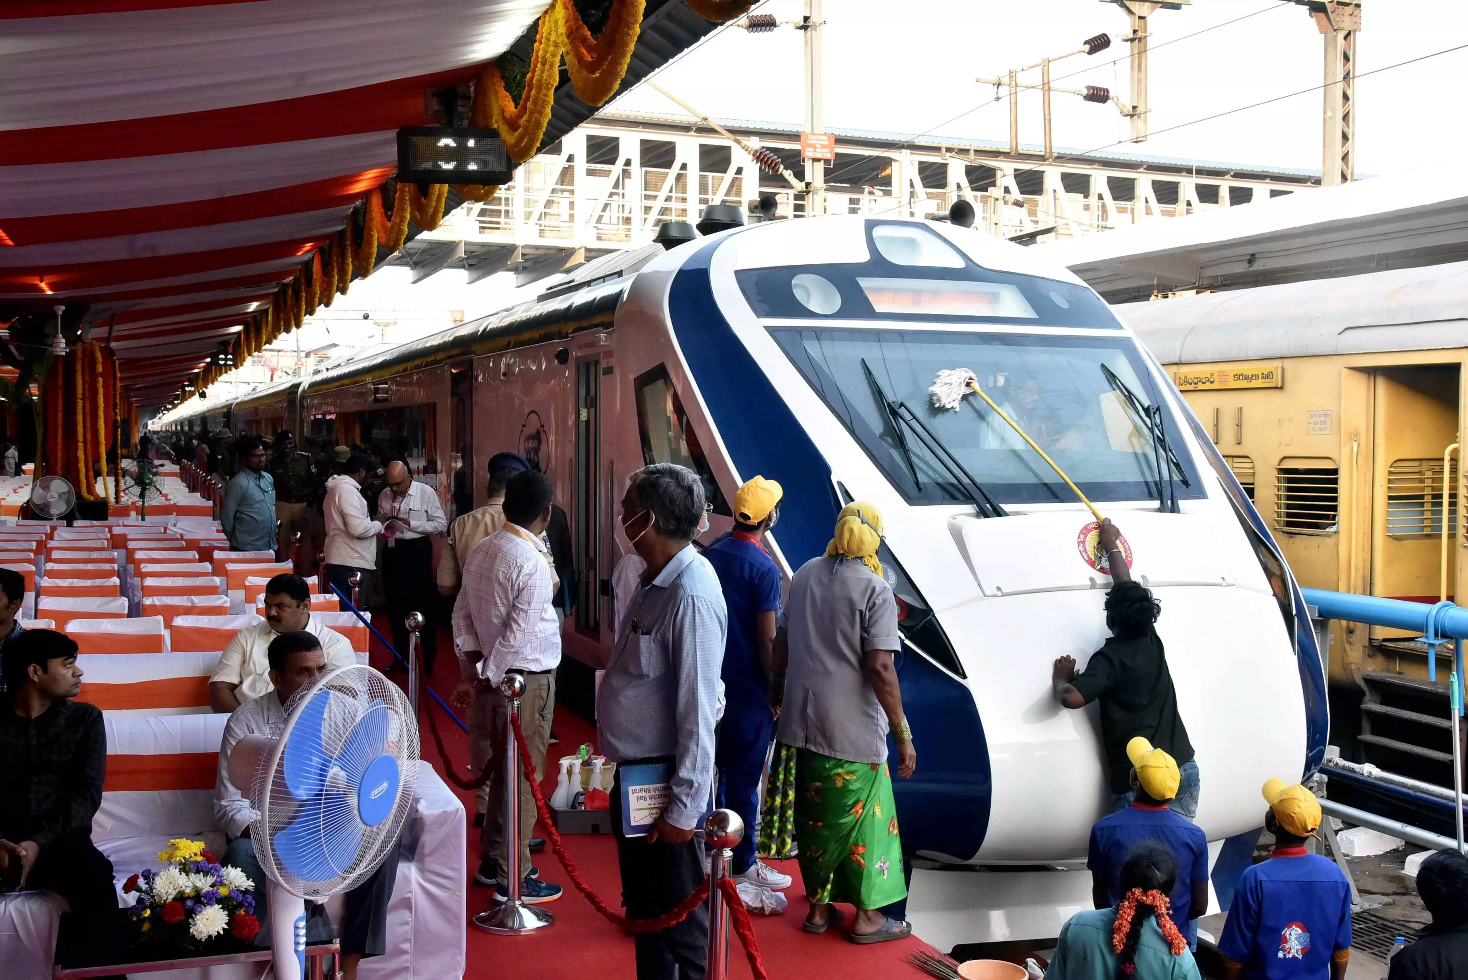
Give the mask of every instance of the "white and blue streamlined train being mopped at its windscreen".
[[(483, 502), (490, 454), (539, 458), (574, 529), (567, 651), (584, 667), (612, 645), (608, 580), (634, 469), (697, 470), (708, 539), (741, 480), (780, 480), (787, 576), (824, 552), (843, 504), (876, 502), (918, 748), (916, 774), (897, 780), (903, 840), (923, 868), (992, 871), (919, 871), (910, 912), (929, 936), (923, 914), (963, 911), (935, 927), (956, 942), (1054, 936), (1089, 896), (1089, 876), (1054, 868), (1083, 861), (1108, 792), (1095, 711), (1060, 708), (1051, 667), (1064, 654), (1083, 667), (1105, 641), (1110, 577), (1092, 514), (988, 406), (929, 404), (938, 372), (960, 367), (1122, 527), (1133, 576), (1161, 599), (1202, 774), (1198, 823), (1216, 842), (1257, 829), (1264, 780), (1314, 771), (1326, 748), (1299, 589), (1157, 361), (1035, 251), (928, 220), (727, 229), (608, 256), (534, 303), (257, 392), (229, 420), (236, 433), (294, 422), (298, 438), (408, 438), (459, 508)], [(473, 501), (455, 467), (473, 475)], [(1064, 884), (1020, 887), (1036, 874)], [(1033, 921), (1016, 912), (1026, 901)]]

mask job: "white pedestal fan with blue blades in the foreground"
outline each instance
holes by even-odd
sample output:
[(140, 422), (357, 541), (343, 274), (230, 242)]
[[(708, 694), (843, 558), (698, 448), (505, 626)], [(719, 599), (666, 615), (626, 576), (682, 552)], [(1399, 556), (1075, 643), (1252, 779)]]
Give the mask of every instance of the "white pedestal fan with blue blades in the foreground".
[(417, 721), (380, 673), (342, 667), (291, 698), (279, 733), (239, 739), (229, 777), (260, 814), (250, 839), (270, 879), (276, 980), (302, 980), (305, 899), (351, 890), (398, 846), (418, 779)]

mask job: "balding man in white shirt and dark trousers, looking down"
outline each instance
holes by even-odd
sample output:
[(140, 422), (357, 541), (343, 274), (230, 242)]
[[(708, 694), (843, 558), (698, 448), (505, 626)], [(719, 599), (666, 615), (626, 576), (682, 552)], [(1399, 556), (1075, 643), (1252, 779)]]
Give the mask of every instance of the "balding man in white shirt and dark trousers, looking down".
[(423, 613), (424, 624), (418, 642), (423, 669), (432, 674), (437, 657), (439, 591), (433, 586), (433, 538), (448, 530), (443, 504), (437, 491), (413, 479), (413, 472), (401, 461), (388, 464), (388, 486), (377, 497), (377, 517), (383, 525), (388, 547), (382, 557), (382, 586), (388, 594), (388, 623), (392, 645), (408, 655), (408, 613)]

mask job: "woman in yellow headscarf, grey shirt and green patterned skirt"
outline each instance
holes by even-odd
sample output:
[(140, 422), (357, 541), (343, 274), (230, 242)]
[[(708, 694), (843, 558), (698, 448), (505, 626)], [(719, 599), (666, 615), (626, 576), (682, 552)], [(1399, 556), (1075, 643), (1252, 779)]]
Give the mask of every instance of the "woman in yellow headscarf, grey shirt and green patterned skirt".
[[(918, 754), (903, 717), (893, 654), (897, 602), (876, 558), (882, 516), (849, 504), (825, 555), (796, 572), (775, 638), (781, 752), (794, 749), (793, 824), (810, 912), (807, 933), (840, 923), (832, 902), (856, 905), (849, 939), (876, 943), (912, 933), (881, 909), (907, 896), (903, 849), (887, 764), (912, 776)], [(788, 749), (785, 748), (788, 746)]]

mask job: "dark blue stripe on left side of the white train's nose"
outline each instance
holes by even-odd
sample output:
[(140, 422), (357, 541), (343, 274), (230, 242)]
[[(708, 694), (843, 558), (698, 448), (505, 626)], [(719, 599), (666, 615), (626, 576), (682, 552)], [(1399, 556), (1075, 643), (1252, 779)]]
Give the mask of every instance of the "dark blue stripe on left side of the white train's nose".
[[(675, 275), (671, 326), (734, 469), (784, 486), (777, 539), (799, 569), (825, 551), (835, 525), (831, 467), (713, 300), (709, 262), (722, 241), (700, 248)], [(916, 776), (893, 780), (903, 846), (969, 858), (984, 843), (992, 793), (973, 695), (923, 657), (898, 660), (903, 705), (922, 746)]]

